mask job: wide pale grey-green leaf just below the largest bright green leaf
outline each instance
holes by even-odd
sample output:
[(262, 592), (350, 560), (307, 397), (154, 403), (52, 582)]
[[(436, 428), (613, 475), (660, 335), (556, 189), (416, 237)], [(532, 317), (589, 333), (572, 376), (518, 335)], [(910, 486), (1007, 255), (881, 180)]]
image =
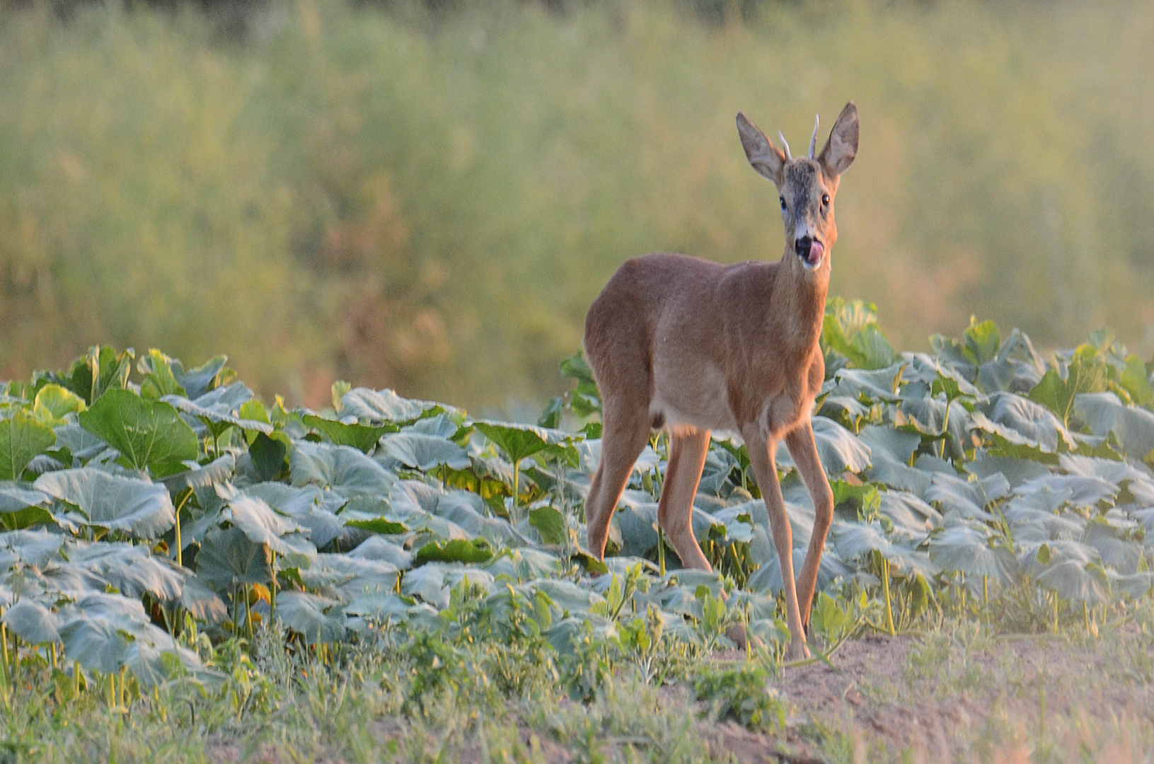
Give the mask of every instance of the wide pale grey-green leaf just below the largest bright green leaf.
[(33, 487), (78, 508), (78, 516), (67, 512), (61, 519), (81, 525), (127, 531), (136, 538), (155, 539), (177, 522), (167, 488), (148, 480), (81, 467), (42, 474)]

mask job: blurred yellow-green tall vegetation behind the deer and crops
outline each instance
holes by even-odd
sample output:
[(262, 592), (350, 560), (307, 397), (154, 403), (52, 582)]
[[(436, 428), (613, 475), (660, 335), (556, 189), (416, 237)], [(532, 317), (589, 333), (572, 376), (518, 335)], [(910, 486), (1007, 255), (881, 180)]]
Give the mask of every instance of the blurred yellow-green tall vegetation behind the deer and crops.
[(1140, 0), (0, 6), (0, 379), (112, 343), (532, 407), (627, 257), (780, 256), (737, 110), (800, 152), (850, 98), (832, 293), (1146, 358), (1151, 40)]

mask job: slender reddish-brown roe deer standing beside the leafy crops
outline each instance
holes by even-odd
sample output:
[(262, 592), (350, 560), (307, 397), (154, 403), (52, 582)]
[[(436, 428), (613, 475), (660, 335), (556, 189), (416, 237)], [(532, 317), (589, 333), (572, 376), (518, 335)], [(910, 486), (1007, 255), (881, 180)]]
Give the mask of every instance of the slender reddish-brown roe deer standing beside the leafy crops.
[[(737, 133), (749, 164), (773, 181), (785, 220), (778, 262), (719, 265), (684, 255), (627, 261), (585, 316), (585, 354), (602, 399), (601, 458), (585, 519), (589, 548), (605, 556), (609, 519), (652, 429), (669, 434), (658, 523), (682, 562), (711, 570), (694, 538), (691, 512), (710, 430), (736, 432), (765, 499), (781, 565), (790, 632), (786, 658), (809, 656), (805, 628), (833, 494), (822, 469), (810, 410), (825, 379), (818, 347), (830, 249), (838, 238), (833, 197), (857, 153), (857, 107), (841, 110), (822, 152), (794, 159), (780, 133), (773, 145), (744, 114)], [(814, 499), (809, 552), (794, 584), (793, 531), (774, 452), (785, 439)]]

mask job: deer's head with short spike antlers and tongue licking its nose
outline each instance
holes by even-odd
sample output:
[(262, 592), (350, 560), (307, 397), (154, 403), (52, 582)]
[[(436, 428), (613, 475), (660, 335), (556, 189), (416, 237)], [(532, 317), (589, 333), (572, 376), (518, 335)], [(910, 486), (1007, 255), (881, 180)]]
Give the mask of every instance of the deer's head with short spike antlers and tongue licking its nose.
[(815, 156), (817, 129), (818, 122), (815, 121), (809, 156), (794, 159), (784, 135), (778, 133), (782, 147), (779, 149), (744, 114), (737, 112), (737, 133), (749, 164), (778, 188), (786, 225), (786, 250), (797, 255), (797, 263), (805, 271), (822, 269), (829, 274), (826, 255), (838, 240), (833, 197), (838, 193), (841, 173), (857, 156), (857, 107), (853, 102), (846, 104), (830, 130), (825, 148)]

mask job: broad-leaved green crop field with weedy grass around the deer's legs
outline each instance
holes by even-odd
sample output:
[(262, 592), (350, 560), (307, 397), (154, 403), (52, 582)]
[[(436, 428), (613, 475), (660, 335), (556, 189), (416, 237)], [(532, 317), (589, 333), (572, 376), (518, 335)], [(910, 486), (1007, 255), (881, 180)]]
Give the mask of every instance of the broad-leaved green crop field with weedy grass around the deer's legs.
[[(822, 340), (837, 515), (805, 662), (890, 638), (913, 686), (975, 635), (1114, 645), (1091, 673), (1122, 672), (1133, 705), (1084, 711), (1084, 758), (1042, 746), (1071, 728), (1029, 732), (1029, 754), (1151, 750), (1152, 368), (1107, 334), (1042, 359), (989, 322), (898, 353), (837, 299)], [(695, 502), (715, 572), (655, 529), (660, 435), (605, 563), (583, 550), (599, 402), (579, 357), (562, 372), (538, 426), (345, 383), (286, 409), (223, 357), (156, 350), (0, 385), (0, 759), (914, 761), (799, 712), (790, 676), (815, 666), (781, 662), (741, 444), (713, 442)], [(802, 555), (812, 510), (778, 466)], [(949, 746), (981, 761), (1013, 733)]]

